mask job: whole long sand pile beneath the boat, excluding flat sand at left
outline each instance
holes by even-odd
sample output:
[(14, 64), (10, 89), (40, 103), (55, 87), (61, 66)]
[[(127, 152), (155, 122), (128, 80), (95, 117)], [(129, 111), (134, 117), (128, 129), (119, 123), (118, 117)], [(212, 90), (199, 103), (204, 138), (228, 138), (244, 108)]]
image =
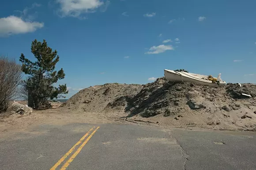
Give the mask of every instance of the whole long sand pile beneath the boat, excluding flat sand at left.
[[(242, 95), (249, 94), (252, 97)], [(195, 83), (104, 84), (75, 94), (62, 109), (105, 112), (162, 126), (256, 130), (256, 85)]]

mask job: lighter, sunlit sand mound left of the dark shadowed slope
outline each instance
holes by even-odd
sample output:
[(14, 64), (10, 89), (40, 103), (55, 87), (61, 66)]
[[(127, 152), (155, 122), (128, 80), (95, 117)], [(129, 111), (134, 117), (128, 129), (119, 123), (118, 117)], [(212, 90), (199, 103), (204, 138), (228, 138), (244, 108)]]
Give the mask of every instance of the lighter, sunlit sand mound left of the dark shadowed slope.
[[(60, 110), (84, 112), (112, 112), (124, 110), (126, 104), (142, 89), (139, 84), (107, 83), (80, 90), (60, 106)], [(109, 106), (112, 101), (113, 107)], [(107, 107), (108, 106), (108, 107)]]

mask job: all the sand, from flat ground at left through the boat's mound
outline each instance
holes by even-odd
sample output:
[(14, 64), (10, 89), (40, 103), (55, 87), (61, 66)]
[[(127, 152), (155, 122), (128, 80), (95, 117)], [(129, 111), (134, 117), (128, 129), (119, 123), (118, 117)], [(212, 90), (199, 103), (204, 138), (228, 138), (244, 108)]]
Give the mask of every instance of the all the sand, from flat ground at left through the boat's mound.
[(38, 124), (76, 122), (256, 131), (254, 84), (214, 88), (195, 83), (171, 84), (164, 78), (146, 85), (108, 83), (80, 90), (62, 105), (54, 105), (56, 109), (30, 115), (1, 114), (1, 135)]

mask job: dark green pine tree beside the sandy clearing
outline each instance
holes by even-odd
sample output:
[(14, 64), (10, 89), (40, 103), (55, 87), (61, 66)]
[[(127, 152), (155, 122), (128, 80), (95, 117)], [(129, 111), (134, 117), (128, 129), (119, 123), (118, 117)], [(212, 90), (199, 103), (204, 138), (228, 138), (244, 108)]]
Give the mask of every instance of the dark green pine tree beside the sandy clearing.
[[(22, 71), (28, 74), (24, 80), (24, 87), (28, 92), (28, 105), (35, 109), (48, 109), (51, 107), (48, 100), (59, 98), (60, 94), (67, 94), (67, 86), (53, 84), (60, 79), (64, 79), (64, 71), (61, 68), (55, 70), (55, 65), (59, 61), (57, 51), (52, 51), (45, 40), (43, 43), (34, 40), (31, 45), (31, 52), (37, 61), (32, 62), (21, 54), (19, 61), (22, 62)], [(63, 97), (63, 96), (62, 96)]]

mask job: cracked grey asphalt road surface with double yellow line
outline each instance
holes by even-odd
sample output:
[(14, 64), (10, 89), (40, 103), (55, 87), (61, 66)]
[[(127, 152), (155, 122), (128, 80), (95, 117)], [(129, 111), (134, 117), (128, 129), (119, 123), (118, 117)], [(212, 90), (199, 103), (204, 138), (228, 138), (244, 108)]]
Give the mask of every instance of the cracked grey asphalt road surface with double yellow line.
[(0, 153), (0, 170), (256, 170), (256, 133), (39, 125), (2, 140)]

